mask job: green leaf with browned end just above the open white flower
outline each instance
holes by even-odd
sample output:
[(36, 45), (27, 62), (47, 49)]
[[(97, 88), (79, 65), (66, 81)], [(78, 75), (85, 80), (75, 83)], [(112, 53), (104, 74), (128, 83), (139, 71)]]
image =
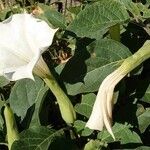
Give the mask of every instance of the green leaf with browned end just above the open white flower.
[(50, 8), (50, 6), (44, 4), (38, 4), (38, 6), (42, 9), (43, 13), (39, 15), (41, 19), (52, 24), (55, 28), (66, 28), (66, 20), (65, 17), (59, 13), (58, 11)]

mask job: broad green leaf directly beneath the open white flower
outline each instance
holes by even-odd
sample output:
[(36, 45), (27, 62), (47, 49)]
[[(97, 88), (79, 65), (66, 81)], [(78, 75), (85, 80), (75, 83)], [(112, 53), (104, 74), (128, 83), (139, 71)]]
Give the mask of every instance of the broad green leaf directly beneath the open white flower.
[(13, 112), (23, 119), (26, 116), (27, 110), (37, 103), (35, 107), (35, 113), (37, 113), (37, 109), (40, 107), (39, 102), (42, 101), (47, 90), (44, 82), (38, 77), (35, 77), (35, 81), (30, 79), (17, 81), (12, 88), (9, 98)]

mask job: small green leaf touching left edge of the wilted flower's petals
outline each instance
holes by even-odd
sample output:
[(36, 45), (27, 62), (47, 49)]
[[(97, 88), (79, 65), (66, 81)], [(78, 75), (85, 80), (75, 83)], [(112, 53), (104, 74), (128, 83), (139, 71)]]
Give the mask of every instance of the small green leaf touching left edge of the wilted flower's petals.
[(75, 111), (89, 118), (92, 112), (95, 98), (96, 95), (93, 93), (83, 95), (81, 103), (75, 105)]

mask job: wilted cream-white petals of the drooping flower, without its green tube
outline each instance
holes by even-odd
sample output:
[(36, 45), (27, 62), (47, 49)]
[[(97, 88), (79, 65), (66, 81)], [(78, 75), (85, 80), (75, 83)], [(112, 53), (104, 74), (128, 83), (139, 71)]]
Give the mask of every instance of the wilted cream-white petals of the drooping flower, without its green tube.
[(126, 75), (122, 68), (118, 68), (108, 75), (102, 82), (93, 106), (91, 116), (86, 123), (86, 127), (94, 130), (102, 131), (104, 127), (112, 135), (112, 108), (113, 108), (113, 93), (117, 83)]

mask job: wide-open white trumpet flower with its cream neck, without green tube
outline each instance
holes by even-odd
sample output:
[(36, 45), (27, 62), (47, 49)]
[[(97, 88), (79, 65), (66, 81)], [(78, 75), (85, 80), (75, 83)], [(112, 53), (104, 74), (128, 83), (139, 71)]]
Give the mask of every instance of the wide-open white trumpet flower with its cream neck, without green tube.
[(31, 14), (15, 14), (0, 23), (0, 75), (11, 81), (49, 73), (42, 59), (57, 29)]

